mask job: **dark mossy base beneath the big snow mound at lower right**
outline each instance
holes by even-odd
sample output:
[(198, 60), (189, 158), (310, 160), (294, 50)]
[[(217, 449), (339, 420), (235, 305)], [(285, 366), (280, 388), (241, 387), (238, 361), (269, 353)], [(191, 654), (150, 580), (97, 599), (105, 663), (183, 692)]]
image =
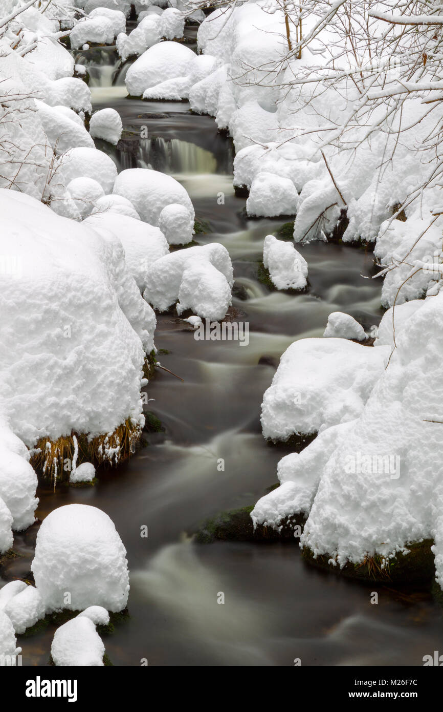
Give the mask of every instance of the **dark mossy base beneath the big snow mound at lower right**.
[(434, 555), (431, 551), (432, 539), (425, 539), (421, 542), (407, 544), (409, 554), (397, 553), (393, 559), (384, 565), (380, 555), (367, 557), (361, 564), (351, 564), (348, 562), (342, 569), (329, 564), (329, 555), (314, 555), (310, 549), (304, 548), (301, 552), (306, 562), (344, 576), (375, 582), (393, 583), (417, 583), (429, 581), (434, 576)]

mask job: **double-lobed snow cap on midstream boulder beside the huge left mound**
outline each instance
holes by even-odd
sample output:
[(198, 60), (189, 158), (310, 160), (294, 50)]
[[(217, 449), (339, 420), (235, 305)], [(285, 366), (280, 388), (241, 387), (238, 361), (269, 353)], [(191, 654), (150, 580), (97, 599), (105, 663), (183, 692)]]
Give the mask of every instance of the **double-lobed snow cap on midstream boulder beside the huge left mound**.
[(149, 267), (144, 298), (155, 309), (177, 305), (211, 320), (223, 319), (230, 306), (233, 267), (223, 245), (210, 243), (170, 253)]

